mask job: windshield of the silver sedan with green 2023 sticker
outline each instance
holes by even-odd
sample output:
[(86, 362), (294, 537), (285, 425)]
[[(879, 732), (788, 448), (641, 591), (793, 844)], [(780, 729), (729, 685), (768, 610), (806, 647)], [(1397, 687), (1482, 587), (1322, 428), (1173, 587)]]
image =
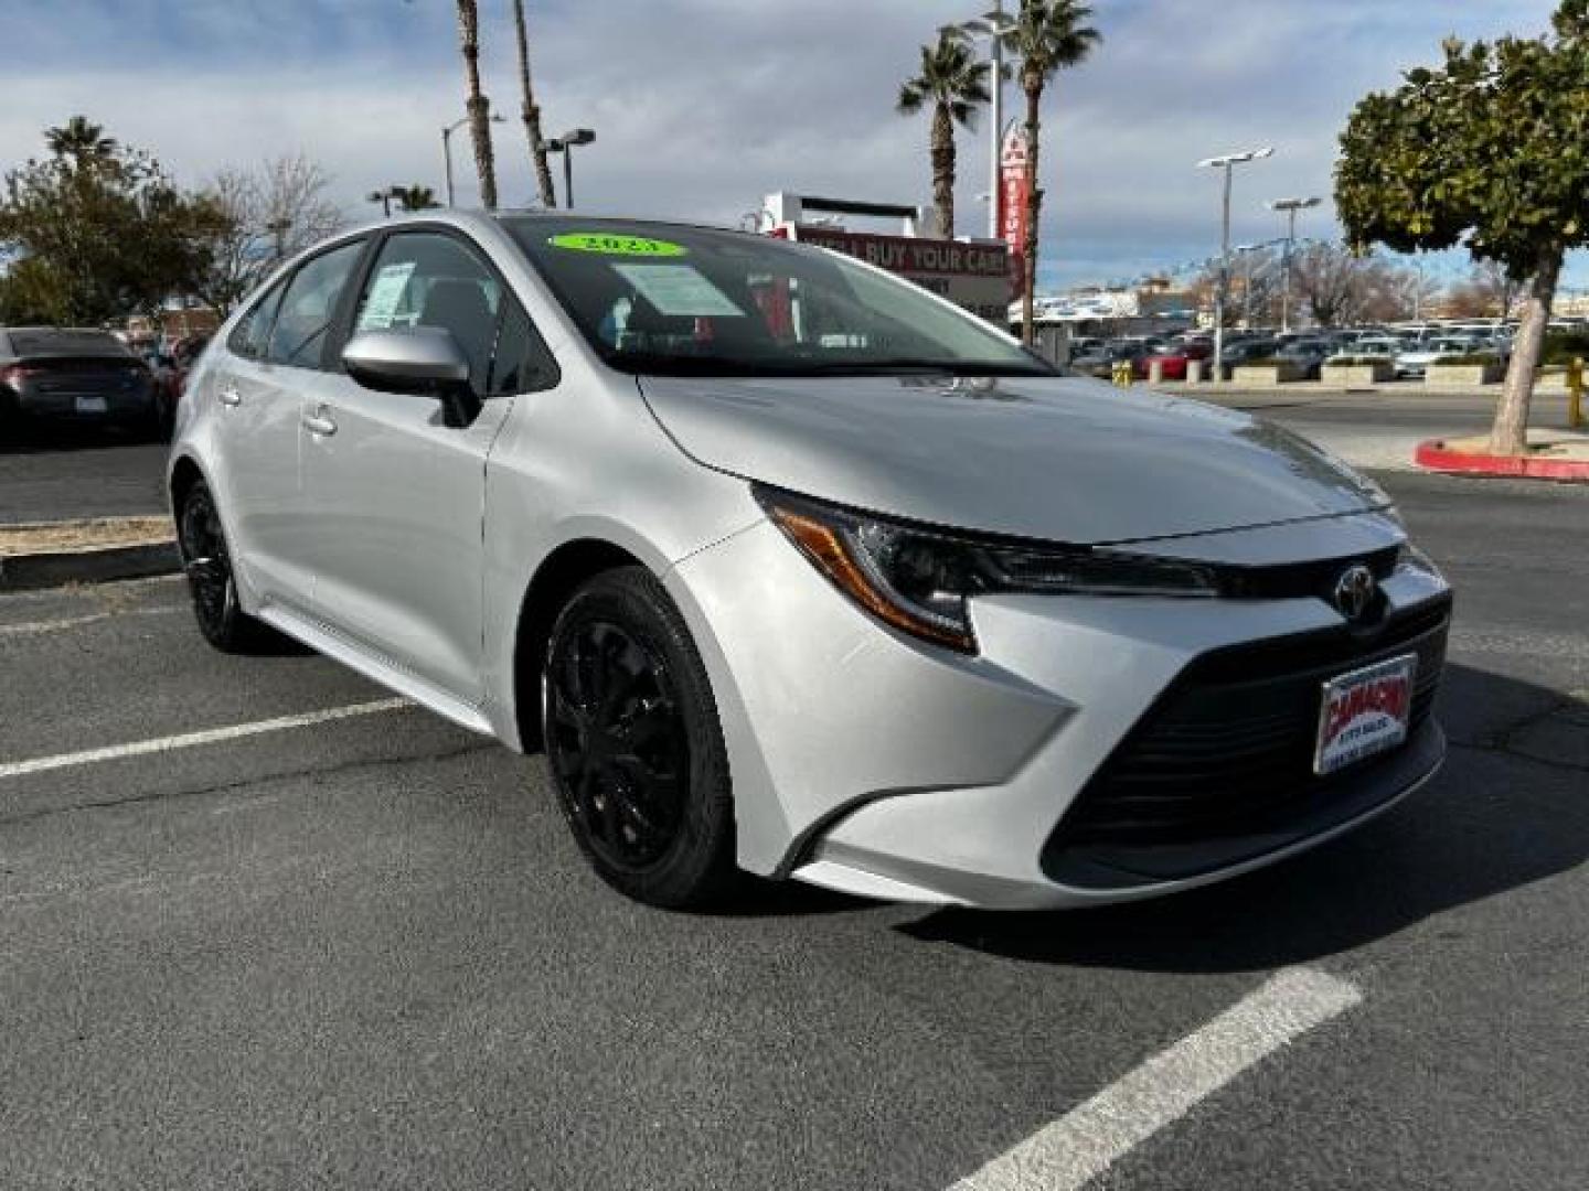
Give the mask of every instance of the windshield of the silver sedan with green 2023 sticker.
[(504, 225), (590, 345), (623, 372), (1057, 373), (980, 319), (818, 248), (669, 224)]

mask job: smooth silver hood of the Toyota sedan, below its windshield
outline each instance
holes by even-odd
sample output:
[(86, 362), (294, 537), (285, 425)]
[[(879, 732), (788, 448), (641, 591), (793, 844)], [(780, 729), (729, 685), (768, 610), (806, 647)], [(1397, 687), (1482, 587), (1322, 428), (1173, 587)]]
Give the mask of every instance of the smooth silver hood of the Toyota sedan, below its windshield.
[(1276, 426), (1079, 378), (640, 380), (698, 462), (852, 508), (1050, 542), (1386, 508)]

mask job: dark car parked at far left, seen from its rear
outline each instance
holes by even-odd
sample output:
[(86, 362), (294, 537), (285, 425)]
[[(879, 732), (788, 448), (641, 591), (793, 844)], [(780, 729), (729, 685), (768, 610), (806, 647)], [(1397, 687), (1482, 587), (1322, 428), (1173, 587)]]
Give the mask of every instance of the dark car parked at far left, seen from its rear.
[(108, 330), (0, 329), (0, 422), (72, 421), (159, 430), (149, 365)]

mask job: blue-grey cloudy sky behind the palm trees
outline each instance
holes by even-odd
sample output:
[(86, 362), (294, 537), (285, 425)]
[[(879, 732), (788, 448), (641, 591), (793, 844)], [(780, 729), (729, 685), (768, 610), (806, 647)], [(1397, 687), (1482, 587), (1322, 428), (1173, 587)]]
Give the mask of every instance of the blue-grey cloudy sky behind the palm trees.
[[(1367, 91), (1449, 33), (1538, 32), (1552, 0), (1093, 0), (1104, 46), (1049, 98), (1044, 283), (1206, 257), (1217, 179), (1251, 145), (1235, 237), (1279, 232), (1263, 200), (1328, 195), (1335, 137)], [(591, 211), (734, 222), (761, 195), (928, 202), (926, 118), (893, 113), (917, 46), (985, 0), (529, 0), (548, 133), (580, 152)], [(480, 0), (502, 198), (532, 194), (508, 0)], [(442, 191), (440, 127), (462, 114), (451, 0), (0, 0), (0, 168), (73, 113), (183, 181), (305, 151), (350, 213), (391, 183)], [(1014, 102), (1014, 91), (1011, 102)], [(979, 125), (980, 130), (980, 125)], [(963, 133), (961, 230), (980, 227), (985, 140)], [(454, 140), (474, 202), (467, 138)], [(1309, 233), (1333, 233), (1328, 208)]]

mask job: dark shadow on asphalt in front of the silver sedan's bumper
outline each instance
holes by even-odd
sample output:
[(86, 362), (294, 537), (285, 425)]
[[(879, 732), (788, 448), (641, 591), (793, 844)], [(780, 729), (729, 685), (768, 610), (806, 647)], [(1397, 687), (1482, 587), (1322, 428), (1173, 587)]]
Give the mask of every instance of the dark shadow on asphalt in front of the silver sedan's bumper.
[(1589, 770), (1510, 751), (1517, 732), (1564, 702), (1449, 665), (1444, 770), (1340, 840), (1154, 902), (1031, 915), (939, 910), (899, 929), (1009, 959), (1158, 972), (1268, 970), (1362, 946), (1589, 859)]

